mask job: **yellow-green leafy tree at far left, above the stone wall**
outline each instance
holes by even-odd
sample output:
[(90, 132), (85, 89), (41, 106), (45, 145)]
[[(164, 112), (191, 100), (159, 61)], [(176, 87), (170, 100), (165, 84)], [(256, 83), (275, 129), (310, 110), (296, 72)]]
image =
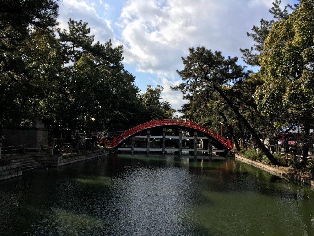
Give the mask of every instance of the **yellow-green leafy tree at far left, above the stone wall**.
[[(61, 48), (51, 31), (35, 27), (15, 54), (27, 65), (28, 77), (15, 77), (4, 89), (0, 119), (6, 125), (31, 126), (33, 118), (43, 115), (47, 96), (58, 87)], [(2, 79), (9, 77), (4, 73)]]

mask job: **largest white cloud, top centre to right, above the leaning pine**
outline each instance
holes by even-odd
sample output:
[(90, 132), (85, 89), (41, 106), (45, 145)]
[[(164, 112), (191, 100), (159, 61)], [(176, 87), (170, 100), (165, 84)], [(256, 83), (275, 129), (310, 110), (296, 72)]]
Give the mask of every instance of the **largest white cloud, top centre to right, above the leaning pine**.
[(205, 46), (241, 57), (252, 45), (246, 31), (270, 18), (273, 0), (129, 0), (120, 26), (125, 62), (138, 71), (175, 78), (189, 47)]

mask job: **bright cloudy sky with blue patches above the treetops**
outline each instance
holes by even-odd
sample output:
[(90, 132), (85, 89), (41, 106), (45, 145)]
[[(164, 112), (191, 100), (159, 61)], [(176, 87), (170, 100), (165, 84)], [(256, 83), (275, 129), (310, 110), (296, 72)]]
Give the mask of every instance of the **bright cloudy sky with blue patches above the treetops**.
[[(273, 0), (59, 0), (59, 27), (68, 20), (88, 23), (95, 42), (112, 40), (123, 45), (123, 64), (146, 90), (146, 85), (164, 87), (161, 101), (180, 109), (186, 101), (171, 86), (180, 83), (181, 57), (190, 47), (204, 46), (223, 55), (239, 58), (239, 48), (250, 48), (246, 32), (264, 18)], [(283, 0), (282, 6), (293, 3)], [(250, 68), (257, 70), (258, 68)]]

